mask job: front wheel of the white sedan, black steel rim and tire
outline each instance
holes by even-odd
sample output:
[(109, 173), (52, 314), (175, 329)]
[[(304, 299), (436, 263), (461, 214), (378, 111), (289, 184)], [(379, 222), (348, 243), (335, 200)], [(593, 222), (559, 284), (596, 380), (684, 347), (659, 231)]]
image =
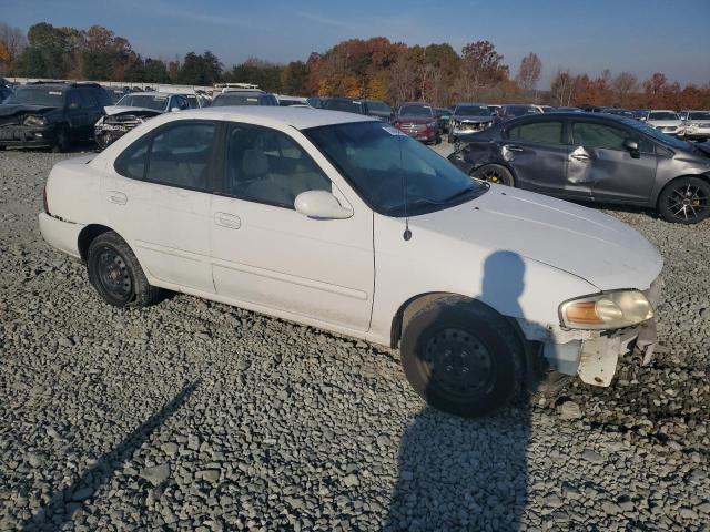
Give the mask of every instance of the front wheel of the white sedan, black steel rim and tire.
[(479, 301), (452, 296), (427, 305), (408, 321), (400, 351), (409, 385), (445, 412), (491, 413), (520, 389), (518, 334)]

